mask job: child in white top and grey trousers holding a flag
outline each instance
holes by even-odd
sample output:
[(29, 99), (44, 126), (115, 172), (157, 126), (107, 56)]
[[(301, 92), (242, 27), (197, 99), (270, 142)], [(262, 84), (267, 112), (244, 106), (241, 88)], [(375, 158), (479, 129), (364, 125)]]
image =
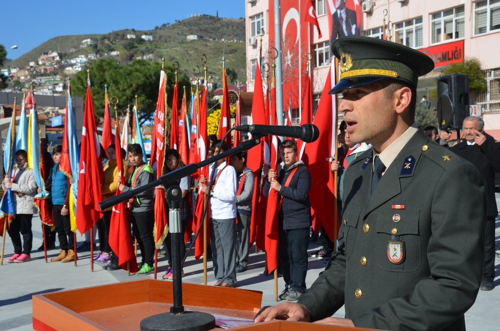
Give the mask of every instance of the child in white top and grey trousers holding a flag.
[[(213, 155), (227, 150), (224, 141), (213, 146)], [(210, 165), (211, 176), (212, 165)], [(213, 183), (200, 177), (198, 185), (210, 198), (210, 245), (215, 286), (236, 286), (236, 171), (224, 159), (216, 162)]]

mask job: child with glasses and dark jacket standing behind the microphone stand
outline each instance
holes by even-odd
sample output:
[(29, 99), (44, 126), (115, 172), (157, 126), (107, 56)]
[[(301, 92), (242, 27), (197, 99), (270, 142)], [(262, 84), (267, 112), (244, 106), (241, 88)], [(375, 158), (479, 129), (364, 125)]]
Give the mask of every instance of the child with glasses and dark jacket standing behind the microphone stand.
[[(180, 154), (176, 149), (168, 149), (165, 152), (165, 166), (163, 167), (163, 173), (168, 173), (175, 169), (183, 166), (184, 163), (180, 159)], [(179, 203), (180, 210), (180, 226), (181, 226), (181, 237), (180, 237), (180, 258), (184, 257), (186, 250), (184, 243), (184, 231), (186, 228), (186, 223), (192, 218), (191, 207), (189, 206), (189, 191), (191, 186), (191, 178), (189, 176), (182, 177), (177, 181), (182, 191), (182, 199)], [(161, 186), (161, 185), (160, 185)], [(161, 186), (163, 189), (165, 187)], [(170, 232), (165, 237), (165, 248), (168, 252), (168, 269), (163, 275), (163, 279), (173, 279), (172, 273), (172, 242)], [(184, 270), (181, 270), (181, 274), (184, 275)]]

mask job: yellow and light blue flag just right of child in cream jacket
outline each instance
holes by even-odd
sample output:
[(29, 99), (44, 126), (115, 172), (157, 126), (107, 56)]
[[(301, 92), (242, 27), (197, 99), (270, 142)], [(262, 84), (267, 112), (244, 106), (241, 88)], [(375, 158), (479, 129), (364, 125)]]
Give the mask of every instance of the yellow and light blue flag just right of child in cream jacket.
[[(28, 166), (33, 169), (34, 180), (36, 181), (36, 186), (41, 188), (41, 192), (37, 193), (34, 197), (39, 199), (47, 198), (50, 193), (45, 189), (45, 181), (41, 175), (41, 146), (40, 146), (40, 133), (38, 126), (38, 118), (36, 115), (36, 109), (31, 108), (31, 113), (29, 114), (28, 121)], [(47, 169), (47, 171), (49, 171)]]

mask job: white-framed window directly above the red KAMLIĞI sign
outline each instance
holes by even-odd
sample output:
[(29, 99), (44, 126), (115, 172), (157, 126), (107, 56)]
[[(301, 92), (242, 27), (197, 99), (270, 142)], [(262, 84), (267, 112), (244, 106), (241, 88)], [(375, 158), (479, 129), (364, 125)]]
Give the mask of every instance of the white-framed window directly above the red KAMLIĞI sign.
[(432, 43), (463, 38), (463, 6), (436, 12), (431, 15)]

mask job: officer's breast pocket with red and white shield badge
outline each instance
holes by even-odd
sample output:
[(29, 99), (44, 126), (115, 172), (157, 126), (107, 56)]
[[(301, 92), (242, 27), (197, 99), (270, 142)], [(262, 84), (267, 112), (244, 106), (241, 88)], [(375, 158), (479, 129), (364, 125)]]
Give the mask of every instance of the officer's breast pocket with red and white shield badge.
[(421, 265), (419, 209), (380, 210), (376, 217), (373, 253), (383, 270), (412, 272)]

